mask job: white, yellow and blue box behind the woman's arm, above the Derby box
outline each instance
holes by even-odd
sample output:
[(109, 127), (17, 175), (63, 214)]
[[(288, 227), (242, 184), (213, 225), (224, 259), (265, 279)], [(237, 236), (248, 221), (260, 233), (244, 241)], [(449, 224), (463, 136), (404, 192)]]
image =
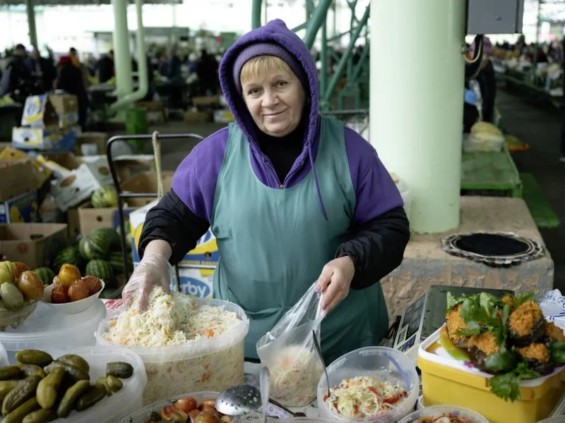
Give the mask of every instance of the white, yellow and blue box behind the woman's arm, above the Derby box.
[[(131, 229), (131, 247), (133, 262), (137, 263), (141, 261), (138, 252), (139, 238), (141, 237), (141, 231), (143, 230), (143, 223), (145, 223), (145, 216), (151, 208), (157, 204), (157, 200), (150, 202), (141, 209), (134, 210), (129, 215), (129, 227)], [(215, 268), (218, 264), (218, 259), (220, 259), (220, 252), (218, 252), (218, 243), (216, 243), (216, 238), (212, 231), (208, 229), (198, 243), (196, 243), (196, 248), (194, 250), (186, 253), (179, 266), (186, 267), (196, 267), (196, 268)]]

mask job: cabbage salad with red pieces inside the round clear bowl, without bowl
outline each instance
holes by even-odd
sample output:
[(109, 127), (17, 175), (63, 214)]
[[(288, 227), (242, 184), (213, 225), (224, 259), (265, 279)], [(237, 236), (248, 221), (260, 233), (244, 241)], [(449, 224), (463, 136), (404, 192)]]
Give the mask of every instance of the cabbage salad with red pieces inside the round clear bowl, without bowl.
[(400, 383), (393, 385), (371, 376), (357, 376), (343, 379), (339, 386), (330, 389), (324, 402), (339, 415), (365, 418), (391, 410), (407, 396)]

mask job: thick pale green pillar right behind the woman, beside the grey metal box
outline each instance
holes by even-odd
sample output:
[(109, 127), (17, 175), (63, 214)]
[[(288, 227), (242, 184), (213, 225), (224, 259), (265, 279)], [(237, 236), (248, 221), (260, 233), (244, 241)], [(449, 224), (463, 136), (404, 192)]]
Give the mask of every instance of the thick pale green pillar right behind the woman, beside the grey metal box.
[(370, 142), (417, 233), (459, 225), (465, 1), (371, 0)]

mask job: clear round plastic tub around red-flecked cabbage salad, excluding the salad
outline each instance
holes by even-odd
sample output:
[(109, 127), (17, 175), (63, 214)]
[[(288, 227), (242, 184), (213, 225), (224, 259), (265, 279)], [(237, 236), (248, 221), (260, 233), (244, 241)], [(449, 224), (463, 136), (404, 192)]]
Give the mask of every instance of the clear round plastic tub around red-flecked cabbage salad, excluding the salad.
[(322, 375), (318, 384), (318, 407), (323, 419), (333, 419), (338, 422), (371, 422), (394, 423), (414, 410), (420, 391), (420, 379), (416, 367), (407, 355), (386, 347), (367, 347), (347, 353), (335, 360), (328, 367), (330, 386), (337, 386), (343, 379), (357, 376), (373, 376), (379, 381), (388, 381), (395, 385), (400, 382), (408, 392), (408, 397), (394, 408), (381, 415), (367, 419), (349, 418), (338, 415), (326, 403), (323, 397), (328, 392), (326, 376)]

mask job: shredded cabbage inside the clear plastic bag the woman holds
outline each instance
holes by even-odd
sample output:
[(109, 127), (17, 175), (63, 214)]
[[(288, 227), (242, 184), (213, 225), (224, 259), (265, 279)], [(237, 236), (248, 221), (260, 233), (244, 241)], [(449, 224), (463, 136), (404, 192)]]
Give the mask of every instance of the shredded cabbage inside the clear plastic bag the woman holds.
[(287, 407), (302, 407), (316, 398), (323, 372), (319, 357), (309, 348), (289, 345), (268, 360), (271, 398)]

